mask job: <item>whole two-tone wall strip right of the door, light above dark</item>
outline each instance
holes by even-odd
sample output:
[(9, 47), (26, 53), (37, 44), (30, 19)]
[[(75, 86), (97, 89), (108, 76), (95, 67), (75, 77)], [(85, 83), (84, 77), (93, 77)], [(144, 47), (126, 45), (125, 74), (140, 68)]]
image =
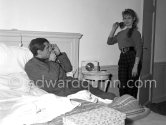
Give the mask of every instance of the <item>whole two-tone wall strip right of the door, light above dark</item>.
[(152, 102), (166, 100), (166, 0), (157, 0)]

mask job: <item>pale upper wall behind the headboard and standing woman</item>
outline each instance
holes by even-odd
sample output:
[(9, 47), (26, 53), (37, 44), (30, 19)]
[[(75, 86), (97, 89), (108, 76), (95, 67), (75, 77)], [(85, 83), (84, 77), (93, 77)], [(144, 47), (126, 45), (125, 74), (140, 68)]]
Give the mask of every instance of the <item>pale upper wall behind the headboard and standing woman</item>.
[(141, 27), (142, 1), (0, 0), (0, 29), (81, 33), (80, 62), (98, 60), (100, 65), (117, 65), (117, 45), (106, 44), (112, 24), (122, 20), (125, 8), (132, 8)]

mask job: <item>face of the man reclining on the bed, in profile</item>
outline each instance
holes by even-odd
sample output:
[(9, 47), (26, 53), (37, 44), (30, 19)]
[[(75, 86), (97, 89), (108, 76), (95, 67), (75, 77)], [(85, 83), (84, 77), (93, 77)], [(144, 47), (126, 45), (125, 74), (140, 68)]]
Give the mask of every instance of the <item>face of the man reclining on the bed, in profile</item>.
[(40, 55), (41, 58), (43, 59), (48, 59), (50, 57), (50, 53), (51, 53), (51, 46), (48, 42), (44, 43), (45, 47), (42, 50), (39, 50), (38, 55)]

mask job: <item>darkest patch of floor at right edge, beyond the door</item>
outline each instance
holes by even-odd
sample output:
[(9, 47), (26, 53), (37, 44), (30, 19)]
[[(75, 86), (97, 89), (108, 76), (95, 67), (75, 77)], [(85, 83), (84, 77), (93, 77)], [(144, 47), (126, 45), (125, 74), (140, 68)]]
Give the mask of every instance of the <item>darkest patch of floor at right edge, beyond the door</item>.
[(152, 111), (166, 116), (166, 101), (161, 103), (151, 103), (147, 105)]

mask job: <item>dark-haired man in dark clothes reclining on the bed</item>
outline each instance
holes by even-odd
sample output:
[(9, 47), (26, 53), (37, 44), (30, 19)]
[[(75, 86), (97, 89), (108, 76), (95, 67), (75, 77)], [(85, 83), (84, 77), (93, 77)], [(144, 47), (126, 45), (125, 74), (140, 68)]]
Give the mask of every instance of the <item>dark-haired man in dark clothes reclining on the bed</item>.
[(34, 57), (26, 63), (25, 71), (40, 89), (58, 96), (89, 90), (104, 99), (112, 100), (115, 97), (112, 93), (93, 88), (87, 81), (67, 77), (66, 73), (72, 71), (72, 65), (66, 53), (60, 52), (56, 44), (50, 44), (45, 38), (36, 38), (30, 42), (29, 49)]

